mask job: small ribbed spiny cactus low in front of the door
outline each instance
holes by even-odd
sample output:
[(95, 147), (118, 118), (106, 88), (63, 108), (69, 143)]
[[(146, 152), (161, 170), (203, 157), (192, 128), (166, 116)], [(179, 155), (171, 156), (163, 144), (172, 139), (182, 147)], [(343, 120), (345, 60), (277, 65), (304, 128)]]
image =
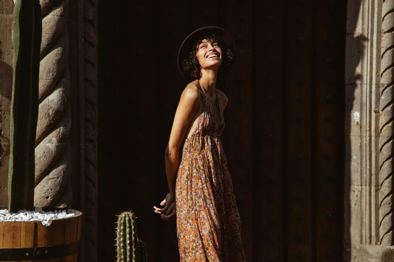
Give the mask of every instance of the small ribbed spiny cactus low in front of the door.
[(146, 245), (136, 235), (135, 217), (123, 212), (118, 217), (116, 252), (118, 262), (146, 262)]

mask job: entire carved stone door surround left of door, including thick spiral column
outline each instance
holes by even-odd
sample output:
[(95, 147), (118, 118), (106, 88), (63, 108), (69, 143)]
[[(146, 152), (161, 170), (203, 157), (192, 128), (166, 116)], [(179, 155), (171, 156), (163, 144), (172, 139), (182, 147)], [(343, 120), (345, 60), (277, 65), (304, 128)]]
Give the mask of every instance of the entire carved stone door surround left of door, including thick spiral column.
[[(84, 213), (82, 262), (97, 260), (97, 3), (40, 0), (35, 205), (73, 204)], [(13, 0), (0, 1), (0, 205), (8, 201), (13, 9)]]

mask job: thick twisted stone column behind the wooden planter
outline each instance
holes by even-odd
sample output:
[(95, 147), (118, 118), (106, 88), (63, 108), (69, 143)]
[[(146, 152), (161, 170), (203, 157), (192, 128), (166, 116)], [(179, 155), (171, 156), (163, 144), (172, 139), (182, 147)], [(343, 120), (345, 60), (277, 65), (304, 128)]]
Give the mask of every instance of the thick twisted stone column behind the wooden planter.
[(72, 200), (68, 1), (41, 0), (40, 3), (43, 19), (34, 204), (66, 207)]

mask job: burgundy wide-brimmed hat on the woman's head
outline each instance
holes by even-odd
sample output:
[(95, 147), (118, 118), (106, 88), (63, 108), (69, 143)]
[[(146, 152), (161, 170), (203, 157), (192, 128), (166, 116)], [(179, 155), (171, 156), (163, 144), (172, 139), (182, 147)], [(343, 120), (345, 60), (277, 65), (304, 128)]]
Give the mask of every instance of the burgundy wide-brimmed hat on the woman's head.
[[(187, 77), (183, 74), (183, 67), (182, 67), (182, 63), (183, 61), (188, 57), (189, 52), (191, 51), (192, 45), (195, 45), (196, 42), (203, 36), (207, 36), (207, 35), (219, 35), (221, 36), (221, 40), (223, 41), (223, 43), (234, 53), (235, 55), (235, 46), (234, 46), (234, 42), (232, 42), (231, 38), (230, 38), (230, 34), (220, 28), (220, 27), (203, 27), (200, 29), (197, 29), (196, 31), (194, 31), (193, 33), (191, 33), (186, 39), (185, 41), (183, 41), (181, 47), (179, 48), (179, 52), (178, 52), (178, 69), (181, 72), (183, 77)], [(226, 75), (229, 71), (230, 71), (231, 67), (230, 66), (226, 66), (225, 68), (221, 69), (221, 73), (223, 73), (223, 75)]]

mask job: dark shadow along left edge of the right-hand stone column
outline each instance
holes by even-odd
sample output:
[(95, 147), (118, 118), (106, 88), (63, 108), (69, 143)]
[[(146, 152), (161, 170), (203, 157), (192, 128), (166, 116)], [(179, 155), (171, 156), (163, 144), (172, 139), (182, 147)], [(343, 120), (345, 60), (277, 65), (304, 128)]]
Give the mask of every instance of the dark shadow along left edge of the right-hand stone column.
[[(349, 3), (350, 2), (350, 3)], [(355, 93), (357, 92), (356, 82), (363, 82), (363, 77), (359, 72), (357, 72), (357, 67), (360, 65), (361, 61), (365, 59), (364, 50), (367, 46), (368, 38), (362, 34), (355, 34), (357, 22), (359, 17), (362, 15), (360, 13), (361, 0), (348, 0), (349, 7), (345, 10), (348, 11), (346, 18), (346, 54), (345, 54), (345, 182), (344, 182), (344, 260), (345, 262), (351, 261), (351, 164), (352, 164), (352, 145), (351, 145), (351, 127), (354, 121), (353, 107), (355, 102)], [(354, 10), (349, 12), (349, 10)], [(349, 14), (352, 13), (352, 14)], [(348, 45), (350, 48), (348, 48)], [(356, 142), (357, 143), (357, 142)], [(355, 147), (353, 146), (353, 150)], [(354, 161), (353, 161), (354, 162)]]

